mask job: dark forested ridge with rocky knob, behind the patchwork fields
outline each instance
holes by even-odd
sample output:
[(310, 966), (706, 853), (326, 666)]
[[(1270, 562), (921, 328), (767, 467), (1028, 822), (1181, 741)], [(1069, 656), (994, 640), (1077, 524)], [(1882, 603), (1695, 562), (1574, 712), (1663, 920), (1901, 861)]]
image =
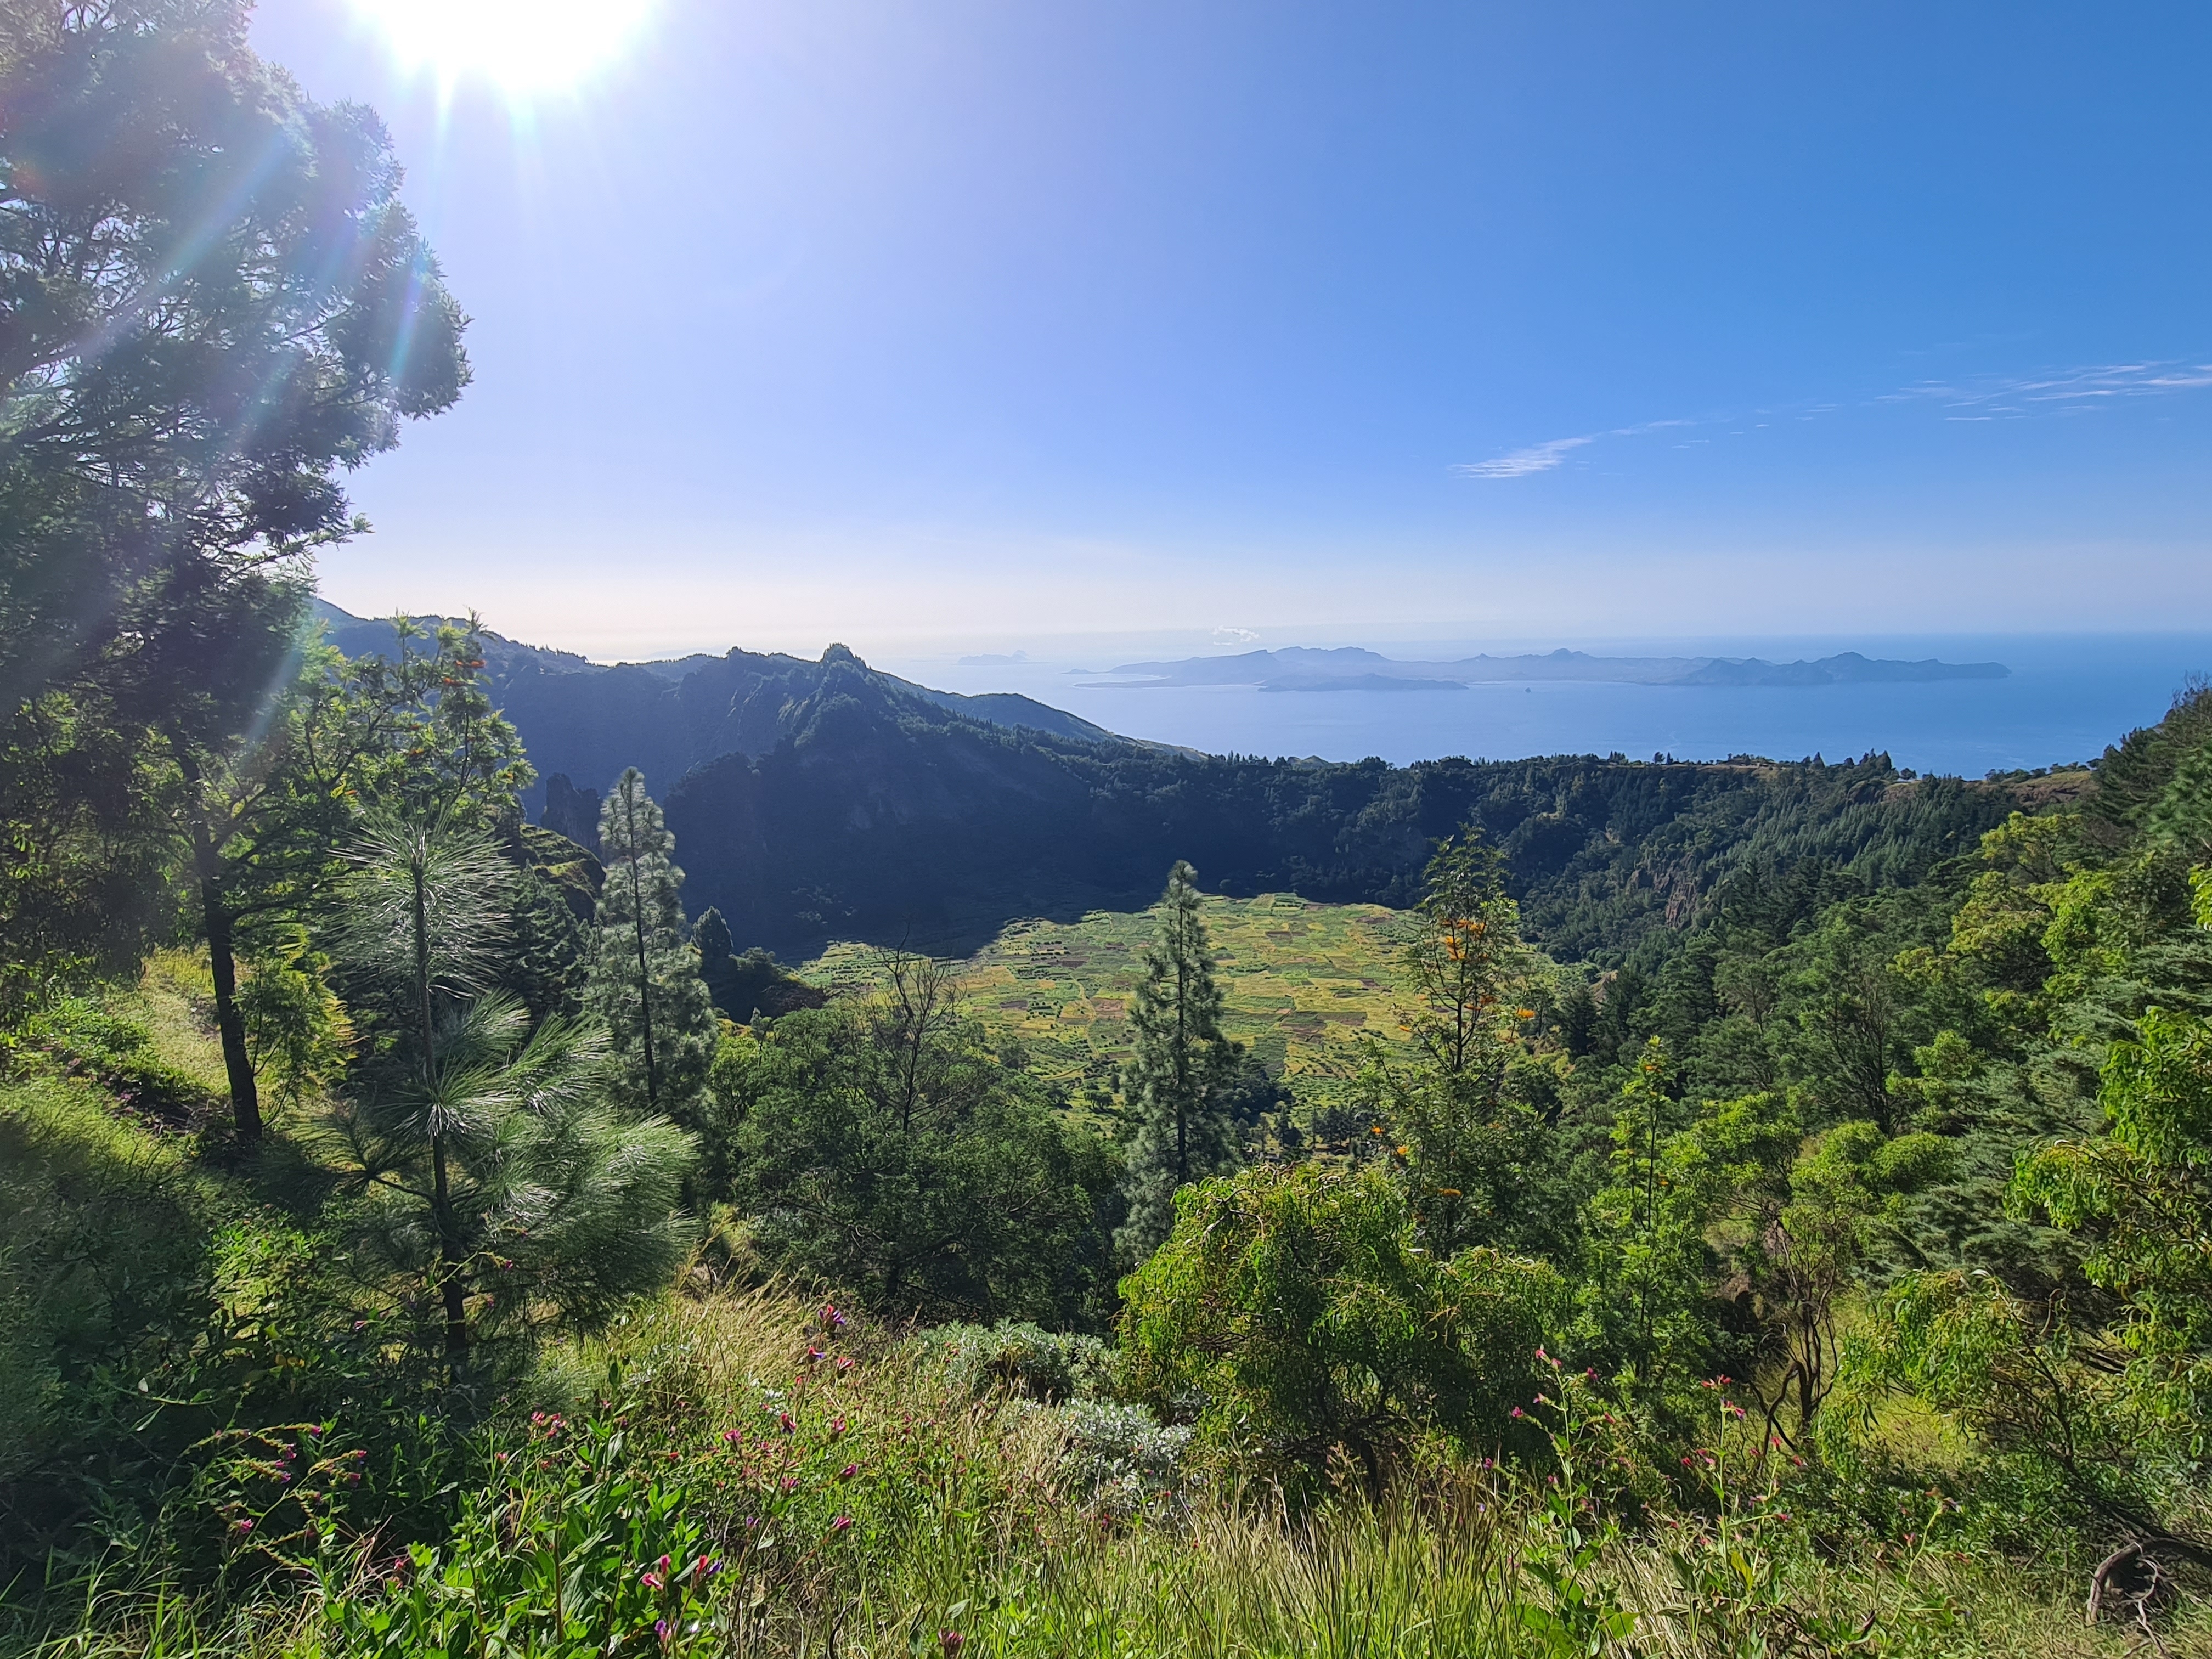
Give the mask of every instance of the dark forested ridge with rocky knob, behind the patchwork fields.
[[(332, 639), (389, 650), (389, 624)], [(546, 779), (551, 827), (588, 841), (599, 790), (641, 768), (684, 838), (692, 911), (783, 953), (830, 938), (971, 949), (1024, 916), (1135, 909), (1175, 858), (1219, 894), (1405, 905), (1436, 843), (1475, 823), (1506, 854), (1531, 938), (1657, 960), (1730, 872), (1909, 883), (2022, 801), (2004, 783), (1907, 779), (1885, 757), (1208, 757), (1020, 697), (931, 692), (843, 648), (599, 670), (493, 639), (487, 675)]]

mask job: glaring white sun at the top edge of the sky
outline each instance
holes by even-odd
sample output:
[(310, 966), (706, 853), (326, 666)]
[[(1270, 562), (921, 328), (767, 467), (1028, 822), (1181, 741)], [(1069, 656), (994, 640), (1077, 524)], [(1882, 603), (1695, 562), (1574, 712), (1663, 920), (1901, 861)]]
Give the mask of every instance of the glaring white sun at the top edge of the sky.
[(575, 86), (637, 33), (653, 0), (354, 0), (409, 73), (507, 93)]

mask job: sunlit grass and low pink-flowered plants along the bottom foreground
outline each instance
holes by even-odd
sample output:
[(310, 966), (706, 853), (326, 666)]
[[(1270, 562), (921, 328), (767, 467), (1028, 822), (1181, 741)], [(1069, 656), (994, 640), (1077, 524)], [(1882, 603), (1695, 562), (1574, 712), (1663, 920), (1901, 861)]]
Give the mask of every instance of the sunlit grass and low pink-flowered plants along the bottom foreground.
[[(1018, 1329), (914, 1340), (768, 1290), (668, 1294), (540, 1369), (473, 1438), (447, 1533), (226, 1551), (261, 1593), (177, 1595), (111, 1553), (75, 1628), (0, 1648), (91, 1655), (995, 1655), (1000, 1659), (2104, 1659), (2048, 1577), (1973, 1546), (1975, 1517), (1896, 1493), (1889, 1535), (1807, 1546), (1814, 1517), (1750, 1482), (1714, 1511), (1593, 1500), (1637, 1447), (1575, 1387), (1544, 1413), (1559, 1482), (1418, 1458), (1290, 1509), (1188, 1440), (1046, 1398)], [(535, 1402), (535, 1405), (533, 1405)], [(526, 1409), (533, 1407), (533, 1409)], [(327, 1442), (325, 1442), (327, 1440)], [(283, 1451), (294, 1451), (285, 1458)], [(1604, 1455), (1593, 1455), (1604, 1453)], [(1714, 1447), (1743, 1473), (1741, 1436)], [(1577, 1462), (1579, 1458), (1579, 1462)], [(272, 1440), (303, 1480), (354, 1464), (347, 1425)], [(1133, 1480), (1133, 1473), (1137, 1475)], [(1834, 1517), (1823, 1517), (1834, 1520)], [(274, 1568), (274, 1571), (272, 1571)], [(305, 1593), (285, 1593), (285, 1584)], [(557, 1586), (557, 1588), (555, 1588)], [(2161, 1648), (2212, 1652), (2203, 1610)], [(13, 1637), (13, 1639), (9, 1639)]]

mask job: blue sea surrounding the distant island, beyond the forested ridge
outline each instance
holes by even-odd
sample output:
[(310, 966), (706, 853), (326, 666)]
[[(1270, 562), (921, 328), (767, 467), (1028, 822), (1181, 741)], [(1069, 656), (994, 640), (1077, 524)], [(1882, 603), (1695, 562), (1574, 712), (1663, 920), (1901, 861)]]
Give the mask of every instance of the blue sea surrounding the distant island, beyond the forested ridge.
[[(1024, 661), (945, 657), (880, 659), (878, 668), (956, 692), (1026, 692), (1128, 737), (1183, 743), (1217, 754), (1312, 754), (1325, 761), (1427, 761), (1444, 754), (1522, 759), (1528, 754), (1672, 754), (1712, 761), (1730, 754), (1843, 759), (1887, 750), (1920, 772), (1982, 776), (2093, 759), (2124, 732), (2157, 721), (2172, 695), (2212, 670), (2212, 635), (1973, 635), (1889, 639), (1721, 639), (1604, 641), (1577, 648), (1595, 657), (1759, 657), (1772, 664), (1865, 657), (1947, 664), (2004, 664), (2004, 677), (1905, 684), (1712, 686), (1546, 679), (1433, 690), (1389, 686), (1270, 692), (1256, 684), (1108, 686), (1117, 666), (1168, 650), (1115, 650), (1082, 641), (1077, 657), (1051, 639), (1022, 641)], [(1256, 646), (1283, 650), (1343, 644), (1270, 633), (1217, 655)], [(1442, 664), (1478, 650), (1531, 653), (1553, 644), (1473, 646), (1387, 644), (1402, 664)], [(1013, 648), (1004, 648), (1011, 657)], [(1172, 653), (1188, 659), (1188, 644)], [(1431, 670), (1433, 672), (1433, 670)]]

